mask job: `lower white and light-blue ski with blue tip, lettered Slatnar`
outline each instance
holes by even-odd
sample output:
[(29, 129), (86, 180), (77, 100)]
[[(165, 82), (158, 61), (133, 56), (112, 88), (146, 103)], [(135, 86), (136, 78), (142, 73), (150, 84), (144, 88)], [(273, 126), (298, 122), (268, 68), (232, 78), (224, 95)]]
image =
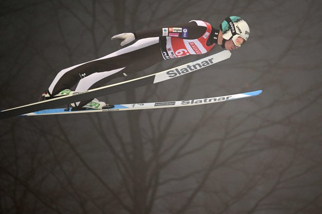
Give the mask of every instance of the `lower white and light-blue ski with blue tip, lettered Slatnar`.
[(210, 104), (215, 102), (230, 101), (235, 99), (241, 99), (246, 97), (258, 96), (262, 93), (262, 90), (226, 95), (221, 97), (210, 97), (201, 99), (190, 99), (190, 100), (180, 100), (180, 101), (167, 101), (167, 102), (149, 102), (149, 103), (133, 103), (133, 104), (120, 104), (115, 105), (114, 108), (110, 109), (86, 109), (72, 111), (71, 108), (64, 109), (47, 109), (38, 112), (28, 113), (21, 116), (41, 116), (41, 115), (62, 115), (62, 114), (80, 114), (80, 113), (93, 113), (93, 112), (115, 112), (115, 111), (127, 111), (127, 110), (141, 110), (141, 109), (157, 109), (157, 108), (172, 108), (172, 107), (182, 107), (182, 106), (194, 106), (202, 104)]

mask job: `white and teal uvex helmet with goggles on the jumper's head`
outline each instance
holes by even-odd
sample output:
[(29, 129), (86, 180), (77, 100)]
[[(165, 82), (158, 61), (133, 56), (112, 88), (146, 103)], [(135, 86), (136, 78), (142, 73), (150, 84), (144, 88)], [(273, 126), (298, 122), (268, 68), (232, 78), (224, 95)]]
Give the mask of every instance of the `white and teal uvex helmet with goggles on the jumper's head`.
[(227, 17), (220, 25), (222, 32), (222, 48), (225, 48), (225, 42), (232, 39), (237, 47), (240, 47), (249, 37), (249, 27), (246, 21), (240, 17)]

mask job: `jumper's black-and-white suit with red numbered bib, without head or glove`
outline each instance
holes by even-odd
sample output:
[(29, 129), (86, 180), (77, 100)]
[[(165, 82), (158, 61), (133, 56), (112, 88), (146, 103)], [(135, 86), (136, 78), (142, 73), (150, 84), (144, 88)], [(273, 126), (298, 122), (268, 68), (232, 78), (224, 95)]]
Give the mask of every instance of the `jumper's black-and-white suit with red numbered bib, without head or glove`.
[[(61, 70), (49, 86), (49, 95), (71, 89), (76, 84), (76, 92), (98, 88), (114, 78), (144, 70), (163, 59), (204, 54), (215, 46), (218, 33), (219, 30), (201, 20), (135, 32), (135, 38), (139, 40), (134, 44), (105, 57)], [(89, 101), (76, 105), (83, 106)]]

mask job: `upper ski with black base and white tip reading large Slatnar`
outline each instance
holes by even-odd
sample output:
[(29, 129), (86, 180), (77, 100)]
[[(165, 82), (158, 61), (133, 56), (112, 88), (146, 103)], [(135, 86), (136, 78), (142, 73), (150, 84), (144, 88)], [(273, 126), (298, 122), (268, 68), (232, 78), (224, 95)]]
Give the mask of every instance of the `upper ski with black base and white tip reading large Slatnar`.
[(62, 97), (52, 98), (52, 99), (48, 99), (40, 102), (19, 106), (12, 109), (3, 110), (3, 111), (0, 111), (0, 119), (19, 116), (30, 112), (40, 111), (43, 109), (54, 108), (61, 105), (78, 102), (81, 100), (101, 97), (104, 95), (124, 91), (130, 88), (141, 87), (144, 85), (154, 84), (168, 79), (180, 77), (182, 75), (192, 73), (201, 68), (207, 67), (209, 65), (213, 65), (224, 59), (230, 58), (230, 56), (231, 56), (231, 53), (227, 50), (224, 50), (224, 51), (221, 51), (220, 53), (213, 54), (172, 69), (161, 71), (156, 74), (151, 74), (141, 78), (135, 78), (135, 79), (119, 82), (116, 84), (107, 85), (96, 89), (91, 89), (84, 92), (73, 93)]

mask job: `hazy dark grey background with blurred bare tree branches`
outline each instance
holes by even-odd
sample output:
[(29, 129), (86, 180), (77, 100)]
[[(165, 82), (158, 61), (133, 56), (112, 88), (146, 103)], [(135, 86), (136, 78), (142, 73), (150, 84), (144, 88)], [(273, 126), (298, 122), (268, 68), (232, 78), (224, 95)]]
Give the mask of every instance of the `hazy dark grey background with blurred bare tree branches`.
[[(219, 27), (227, 16), (250, 26), (247, 43), (228, 60), (98, 98), (121, 104), (262, 95), (1, 120), (0, 213), (321, 213), (318, 0), (2, 0), (0, 109), (35, 102), (61, 69), (119, 50), (121, 40), (110, 40), (116, 34), (192, 19)], [(129, 78), (198, 58), (163, 61)]]

